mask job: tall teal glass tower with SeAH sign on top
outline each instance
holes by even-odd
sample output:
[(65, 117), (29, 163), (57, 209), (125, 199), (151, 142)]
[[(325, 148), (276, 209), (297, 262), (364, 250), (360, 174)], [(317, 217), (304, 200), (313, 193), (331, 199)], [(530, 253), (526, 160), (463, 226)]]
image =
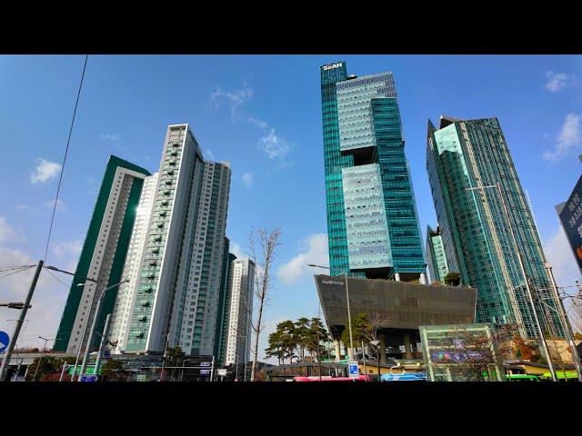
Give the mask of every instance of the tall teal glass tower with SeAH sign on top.
[(358, 78), (336, 62), (320, 74), (332, 273), (425, 282), (392, 73)]

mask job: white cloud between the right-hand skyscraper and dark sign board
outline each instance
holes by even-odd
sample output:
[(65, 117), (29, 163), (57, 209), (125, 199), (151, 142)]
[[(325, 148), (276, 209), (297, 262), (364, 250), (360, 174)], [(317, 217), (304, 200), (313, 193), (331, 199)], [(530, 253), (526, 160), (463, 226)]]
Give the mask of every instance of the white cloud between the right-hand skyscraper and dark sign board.
[(574, 253), (567, 242), (566, 233), (561, 225), (558, 225), (557, 232), (544, 246), (547, 261), (551, 263), (554, 277), (558, 286), (569, 286), (575, 280), (580, 280), (577, 262)]

